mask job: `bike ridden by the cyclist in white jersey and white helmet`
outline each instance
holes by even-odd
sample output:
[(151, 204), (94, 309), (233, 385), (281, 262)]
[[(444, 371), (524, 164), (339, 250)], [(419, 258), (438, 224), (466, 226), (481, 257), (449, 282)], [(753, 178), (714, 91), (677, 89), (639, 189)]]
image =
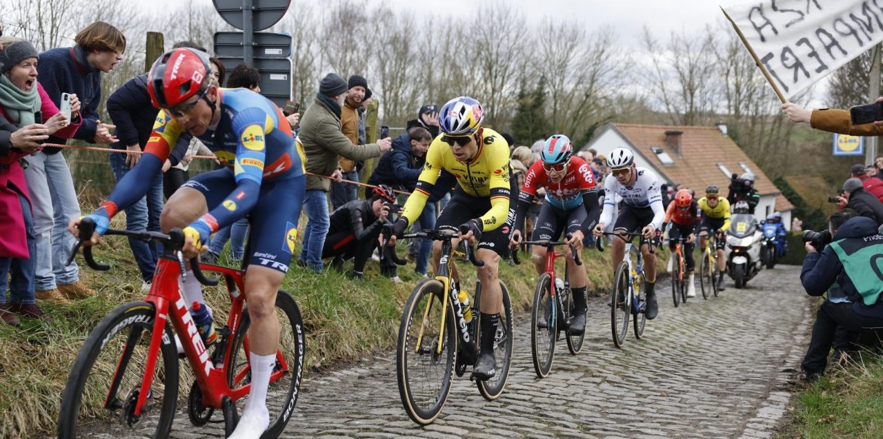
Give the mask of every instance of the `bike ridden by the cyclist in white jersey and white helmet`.
[[(613, 292), (610, 294), (610, 329), (613, 331), (613, 343), (616, 347), (623, 347), (625, 336), (629, 332), (629, 316), (634, 316), (635, 339), (641, 339), (644, 335), (644, 326), (647, 321), (645, 315), (646, 295), (641, 291), (644, 286), (644, 258), (641, 251), (632, 241), (639, 233), (608, 232), (625, 242), (623, 260), (616, 265), (613, 277)], [(653, 253), (653, 241), (648, 240), (650, 253)], [(631, 262), (631, 252), (635, 250), (637, 262)], [(599, 247), (600, 250), (600, 247)]]

